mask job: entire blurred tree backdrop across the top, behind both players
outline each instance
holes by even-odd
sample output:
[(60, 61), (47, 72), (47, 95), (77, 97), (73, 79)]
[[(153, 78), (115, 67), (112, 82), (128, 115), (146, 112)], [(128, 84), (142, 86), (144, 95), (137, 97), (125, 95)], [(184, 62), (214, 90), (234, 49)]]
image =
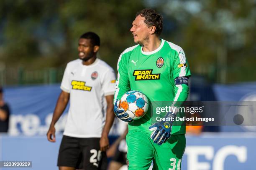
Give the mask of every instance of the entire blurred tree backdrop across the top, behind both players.
[(144, 7), (164, 16), (161, 37), (183, 47), (192, 73), (213, 82), (255, 81), (255, 0), (2, 0), (0, 62), (6, 69), (64, 67), (77, 58), (79, 35), (94, 31), (100, 58), (116, 68)]

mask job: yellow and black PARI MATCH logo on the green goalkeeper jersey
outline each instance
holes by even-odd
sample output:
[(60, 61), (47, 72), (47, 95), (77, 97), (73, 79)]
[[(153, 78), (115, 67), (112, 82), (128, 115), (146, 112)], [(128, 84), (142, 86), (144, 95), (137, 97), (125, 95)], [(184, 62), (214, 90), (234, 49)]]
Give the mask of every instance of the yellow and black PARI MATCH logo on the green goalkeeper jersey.
[(135, 80), (159, 80), (160, 79), (160, 73), (159, 74), (153, 74), (153, 69), (148, 70), (134, 70), (133, 76), (135, 76)]

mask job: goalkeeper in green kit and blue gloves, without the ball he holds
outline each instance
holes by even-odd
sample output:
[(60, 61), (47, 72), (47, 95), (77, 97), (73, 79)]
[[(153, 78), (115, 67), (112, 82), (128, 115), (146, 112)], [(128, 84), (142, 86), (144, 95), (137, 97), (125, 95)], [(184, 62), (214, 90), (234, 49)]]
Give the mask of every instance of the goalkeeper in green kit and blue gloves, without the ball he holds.
[[(151, 102), (170, 101), (172, 105), (185, 101), (190, 76), (187, 60), (181, 47), (159, 38), (163, 21), (156, 11), (141, 10), (132, 25), (130, 31), (138, 45), (127, 48), (119, 57), (114, 97), (115, 114), (129, 122), (128, 169), (147, 170), (152, 160), (156, 169), (180, 169), (186, 144), (185, 126), (172, 126), (172, 121), (156, 122), (150, 108), (144, 117), (132, 121), (124, 110), (117, 108), (120, 98), (129, 90), (143, 92)], [(169, 112), (166, 117), (175, 114)]]

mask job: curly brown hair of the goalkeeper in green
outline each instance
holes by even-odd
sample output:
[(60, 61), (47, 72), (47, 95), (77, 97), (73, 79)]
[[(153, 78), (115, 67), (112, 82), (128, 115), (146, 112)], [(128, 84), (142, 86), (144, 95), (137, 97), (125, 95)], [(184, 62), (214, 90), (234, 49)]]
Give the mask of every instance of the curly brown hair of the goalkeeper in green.
[(148, 25), (148, 27), (151, 26), (155, 26), (156, 27), (156, 31), (155, 34), (156, 35), (160, 35), (162, 30), (163, 30), (163, 17), (162, 15), (158, 14), (155, 10), (146, 8), (143, 9), (141, 11), (139, 11), (136, 14), (136, 17), (138, 15), (141, 15), (141, 17), (144, 17), (144, 23), (146, 23), (146, 25)]

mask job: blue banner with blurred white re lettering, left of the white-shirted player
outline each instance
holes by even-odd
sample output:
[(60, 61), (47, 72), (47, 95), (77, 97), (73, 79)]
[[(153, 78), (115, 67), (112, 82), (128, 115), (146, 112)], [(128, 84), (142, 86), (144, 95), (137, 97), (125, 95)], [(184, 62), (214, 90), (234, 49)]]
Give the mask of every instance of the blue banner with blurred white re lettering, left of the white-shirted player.
[[(59, 86), (57, 84), (5, 88), (4, 98), (11, 109), (9, 134), (45, 135), (61, 92)], [(64, 130), (68, 107), (55, 125), (57, 133)]]

